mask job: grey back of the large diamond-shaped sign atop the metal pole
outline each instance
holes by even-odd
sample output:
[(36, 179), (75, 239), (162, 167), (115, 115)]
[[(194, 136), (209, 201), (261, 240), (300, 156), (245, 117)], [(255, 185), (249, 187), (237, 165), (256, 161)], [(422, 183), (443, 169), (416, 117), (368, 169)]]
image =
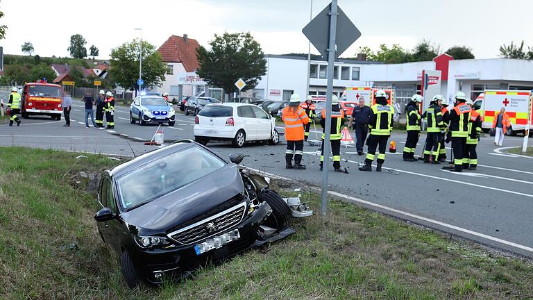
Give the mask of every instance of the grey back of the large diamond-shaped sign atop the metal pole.
[[(310, 40), (311, 44), (318, 50), (324, 58), (328, 58), (328, 44), (330, 42), (330, 10), (331, 4), (326, 6), (319, 15), (307, 24), (302, 32)], [(335, 44), (337, 51), (335, 58), (338, 58), (355, 40), (361, 37), (361, 31), (355, 27), (348, 16), (337, 6), (337, 36)]]

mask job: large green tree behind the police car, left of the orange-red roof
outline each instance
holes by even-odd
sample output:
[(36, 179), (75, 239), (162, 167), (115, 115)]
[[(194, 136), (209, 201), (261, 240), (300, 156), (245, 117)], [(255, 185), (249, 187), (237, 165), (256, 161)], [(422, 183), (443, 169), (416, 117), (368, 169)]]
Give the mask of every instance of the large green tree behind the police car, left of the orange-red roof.
[[(139, 40), (126, 42), (111, 50), (111, 64), (109, 75), (113, 81), (123, 88), (137, 90), (139, 78)], [(142, 80), (144, 88), (161, 86), (164, 75), (167, 74), (165, 65), (155, 46), (142, 41)]]

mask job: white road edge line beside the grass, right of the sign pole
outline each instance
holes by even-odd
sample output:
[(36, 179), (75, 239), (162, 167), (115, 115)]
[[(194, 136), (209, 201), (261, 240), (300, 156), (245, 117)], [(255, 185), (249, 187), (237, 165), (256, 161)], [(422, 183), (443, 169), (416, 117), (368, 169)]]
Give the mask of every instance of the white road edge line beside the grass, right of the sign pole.
[[(398, 171), (398, 170), (397, 170)], [(321, 189), (319, 188), (312, 188), (313, 190), (316, 190), (316, 191), (321, 191)], [(400, 214), (400, 215), (405, 215), (407, 217), (412, 217), (414, 219), (419, 219), (419, 220), (422, 220), (422, 221), (425, 221), (425, 222), (429, 222), (431, 224), (436, 224), (436, 225), (439, 225), (439, 226), (443, 226), (443, 227), (446, 227), (446, 228), (450, 228), (450, 229), (453, 229), (455, 231), (460, 231), (462, 233), (467, 233), (469, 235), (474, 235), (478, 238), (484, 238), (484, 239), (487, 239), (487, 240), (491, 240), (493, 242), (499, 242), (500, 244), (505, 244), (507, 246), (511, 246), (511, 247), (515, 247), (515, 248), (518, 248), (518, 249), (522, 249), (522, 250), (525, 250), (525, 251), (529, 251), (529, 252), (533, 252), (533, 248), (531, 247), (527, 247), (527, 246), (524, 246), (522, 244), (516, 244), (515, 242), (509, 242), (507, 240), (502, 240), (500, 238), (495, 238), (491, 235), (486, 235), (486, 234), (483, 234), (483, 233), (478, 233), (476, 231), (471, 231), (469, 229), (466, 229), (466, 228), (462, 228), (462, 227), (459, 227), (459, 226), (455, 226), (455, 225), (451, 225), (451, 224), (447, 224), (447, 223), (444, 223), (444, 222), (440, 222), (440, 221), (437, 221), (437, 220), (434, 220), (434, 219), (430, 219), (430, 218), (427, 218), (427, 217), (422, 217), (422, 216), (419, 216), (419, 215), (414, 215), (412, 213), (407, 213), (403, 210), (397, 210), (396, 208), (391, 208), (389, 206), (383, 206), (381, 204), (376, 204), (376, 203), (373, 203), (373, 202), (370, 202), (370, 201), (365, 201), (363, 199), (359, 199), (359, 198), (355, 198), (355, 197), (351, 197), (351, 196), (348, 196), (346, 194), (341, 194), (339, 192), (333, 192), (333, 191), (328, 191), (328, 194), (331, 194), (335, 197), (340, 197), (340, 198), (344, 198), (344, 199), (348, 199), (350, 201), (354, 201), (354, 202), (357, 202), (357, 203), (362, 203), (362, 204), (365, 204), (367, 206), (372, 206), (372, 207), (375, 207), (375, 208), (380, 208), (382, 210), (388, 210), (388, 211), (391, 211), (393, 213), (397, 213), (397, 214)]]

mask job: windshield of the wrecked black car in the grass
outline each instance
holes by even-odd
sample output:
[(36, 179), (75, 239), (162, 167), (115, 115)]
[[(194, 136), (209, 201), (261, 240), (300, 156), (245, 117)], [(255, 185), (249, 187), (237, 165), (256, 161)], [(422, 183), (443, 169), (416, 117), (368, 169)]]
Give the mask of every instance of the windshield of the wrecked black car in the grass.
[(223, 160), (201, 147), (171, 153), (117, 179), (121, 206), (126, 211), (132, 210), (225, 165)]

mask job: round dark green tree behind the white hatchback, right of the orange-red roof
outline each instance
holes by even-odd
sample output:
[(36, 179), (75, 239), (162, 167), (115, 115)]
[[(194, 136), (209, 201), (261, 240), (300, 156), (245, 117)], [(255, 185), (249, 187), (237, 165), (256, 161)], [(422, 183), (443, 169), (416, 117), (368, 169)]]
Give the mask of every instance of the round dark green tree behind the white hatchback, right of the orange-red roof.
[(264, 53), (250, 33), (214, 35), (210, 45), (210, 50), (198, 48), (198, 76), (226, 93), (238, 91), (235, 81), (239, 78), (246, 82), (243, 90), (250, 90), (267, 74)]

